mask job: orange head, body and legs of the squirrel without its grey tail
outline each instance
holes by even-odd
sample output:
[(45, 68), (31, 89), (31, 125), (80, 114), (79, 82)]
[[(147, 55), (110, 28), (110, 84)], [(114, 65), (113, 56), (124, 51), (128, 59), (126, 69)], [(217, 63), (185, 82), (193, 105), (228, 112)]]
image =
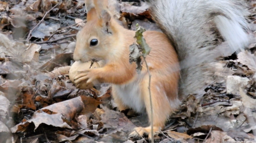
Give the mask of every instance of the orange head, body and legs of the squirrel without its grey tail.
[[(129, 63), (129, 46), (135, 41), (135, 31), (123, 28), (107, 9), (107, 0), (87, 0), (87, 23), (78, 32), (74, 60), (86, 62), (92, 58), (104, 60), (101, 68), (81, 72), (74, 83), (100, 81), (112, 84), (112, 95), (119, 110), (132, 108), (151, 116), (149, 102), (149, 76), (145, 64), (140, 74), (135, 63)], [(151, 47), (146, 61), (151, 73), (151, 96), (153, 107), (153, 132), (163, 128), (166, 119), (180, 105), (178, 82), (179, 60), (168, 37), (160, 32), (146, 31), (143, 36)], [(87, 80), (87, 81), (86, 81)], [(134, 129), (130, 136), (151, 137), (151, 126)]]

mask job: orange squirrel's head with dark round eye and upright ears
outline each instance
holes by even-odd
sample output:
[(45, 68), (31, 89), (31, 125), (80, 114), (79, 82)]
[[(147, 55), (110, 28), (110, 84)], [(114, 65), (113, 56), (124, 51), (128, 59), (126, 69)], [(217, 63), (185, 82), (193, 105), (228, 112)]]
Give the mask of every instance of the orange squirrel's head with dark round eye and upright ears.
[(90, 7), (86, 7), (87, 10), (89, 9), (87, 23), (76, 36), (75, 61), (108, 59), (114, 50), (112, 47), (118, 40), (118, 31), (114, 26), (115, 21), (112, 20), (111, 13), (100, 8), (95, 2), (94, 5), (90, 4)]

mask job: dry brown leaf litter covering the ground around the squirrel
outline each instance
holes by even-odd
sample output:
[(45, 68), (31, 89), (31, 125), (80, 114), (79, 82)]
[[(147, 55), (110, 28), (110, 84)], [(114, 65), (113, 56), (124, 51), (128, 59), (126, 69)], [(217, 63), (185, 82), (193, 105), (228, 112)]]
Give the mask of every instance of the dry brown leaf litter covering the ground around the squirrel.
[[(249, 1), (256, 30), (256, 0)], [(110, 3), (125, 28), (138, 23), (161, 32), (146, 3)], [(108, 84), (72, 84), (75, 35), (85, 22), (84, 0), (0, 1), (0, 143), (148, 142), (146, 135), (128, 139), (135, 126), (148, 125), (147, 117), (118, 111)], [(155, 141), (255, 143), (255, 53), (256, 41), (212, 63), (216, 80), (205, 94), (189, 95)]]

